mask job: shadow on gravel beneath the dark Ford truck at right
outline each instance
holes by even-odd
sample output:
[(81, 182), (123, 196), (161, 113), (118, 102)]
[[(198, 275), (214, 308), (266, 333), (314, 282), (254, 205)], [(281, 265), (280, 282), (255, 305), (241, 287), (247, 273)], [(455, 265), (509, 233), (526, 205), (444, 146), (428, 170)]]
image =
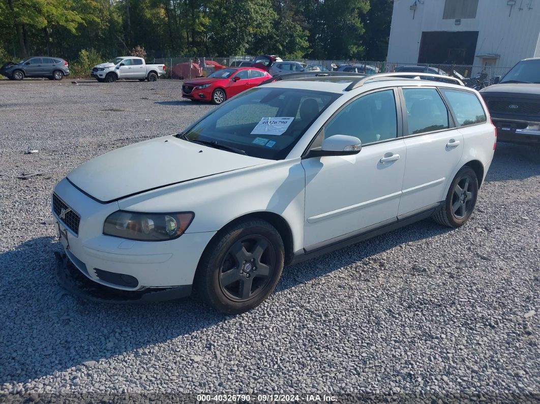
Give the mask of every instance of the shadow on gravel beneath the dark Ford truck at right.
[(540, 175), (540, 145), (497, 143), (486, 181), (524, 180)]

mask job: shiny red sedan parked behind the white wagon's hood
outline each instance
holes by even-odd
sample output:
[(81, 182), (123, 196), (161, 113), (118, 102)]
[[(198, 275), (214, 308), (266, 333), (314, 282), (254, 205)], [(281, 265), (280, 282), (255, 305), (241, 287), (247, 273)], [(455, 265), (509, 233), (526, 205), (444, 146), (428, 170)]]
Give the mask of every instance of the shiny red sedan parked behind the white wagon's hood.
[(221, 104), (226, 99), (258, 86), (271, 77), (268, 72), (253, 67), (227, 67), (213, 72), (208, 77), (185, 81), (182, 86), (182, 97)]

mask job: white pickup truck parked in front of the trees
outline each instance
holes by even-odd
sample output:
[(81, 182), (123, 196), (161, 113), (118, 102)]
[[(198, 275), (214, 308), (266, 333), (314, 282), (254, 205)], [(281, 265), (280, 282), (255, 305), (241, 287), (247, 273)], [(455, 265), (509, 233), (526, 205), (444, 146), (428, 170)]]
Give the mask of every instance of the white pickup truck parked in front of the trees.
[(113, 83), (118, 79), (156, 81), (165, 74), (165, 69), (162, 63), (146, 64), (143, 58), (122, 56), (94, 66), (90, 74), (102, 83)]

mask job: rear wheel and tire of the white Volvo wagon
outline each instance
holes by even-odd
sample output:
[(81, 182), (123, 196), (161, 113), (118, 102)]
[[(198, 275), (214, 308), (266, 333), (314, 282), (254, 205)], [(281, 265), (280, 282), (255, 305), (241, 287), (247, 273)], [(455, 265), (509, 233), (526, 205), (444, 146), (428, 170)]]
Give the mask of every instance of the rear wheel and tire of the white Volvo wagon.
[(446, 200), (433, 214), (443, 226), (458, 228), (469, 220), (478, 197), (478, 178), (469, 166), (462, 167), (450, 184)]

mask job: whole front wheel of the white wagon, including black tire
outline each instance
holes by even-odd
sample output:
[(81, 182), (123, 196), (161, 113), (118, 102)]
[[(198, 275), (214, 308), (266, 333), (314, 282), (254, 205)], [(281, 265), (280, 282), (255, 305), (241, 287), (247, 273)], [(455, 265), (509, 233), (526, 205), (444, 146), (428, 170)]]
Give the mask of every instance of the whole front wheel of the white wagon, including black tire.
[(262, 220), (224, 228), (200, 259), (194, 286), (205, 303), (224, 313), (253, 309), (274, 290), (285, 248), (279, 232)]

